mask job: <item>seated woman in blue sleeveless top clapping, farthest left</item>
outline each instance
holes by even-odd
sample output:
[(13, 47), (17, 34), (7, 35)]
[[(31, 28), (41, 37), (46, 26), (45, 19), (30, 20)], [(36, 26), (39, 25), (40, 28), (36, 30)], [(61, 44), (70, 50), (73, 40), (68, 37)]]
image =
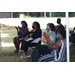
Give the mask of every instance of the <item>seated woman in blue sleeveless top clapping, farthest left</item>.
[(27, 23), (25, 21), (22, 21), (21, 25), (22, 25), (22, 28), (20, 28), (19, 26), (15, 27), (17, 30), (17, 34), (18, 34), (18, 37), (13, 38), (13, 43), (16, 48), (16, 50), (14, 51), (15, 53), (19, 51), (19, 45), (20, 45), (21, 40), (23, 40), (28, 35)]

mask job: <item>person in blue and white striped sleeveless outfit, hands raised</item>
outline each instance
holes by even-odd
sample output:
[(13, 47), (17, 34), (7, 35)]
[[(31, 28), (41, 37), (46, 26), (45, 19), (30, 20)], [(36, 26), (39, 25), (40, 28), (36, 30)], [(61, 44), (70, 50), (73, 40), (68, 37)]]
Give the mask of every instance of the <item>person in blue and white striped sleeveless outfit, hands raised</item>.
[[(37, 61), (32, 62), (64, 62), (66, 58), (66, 31), (64, 29), (58, 30), (57, 34), (59, 35), (59, 40), (55, 43), (49, 39), (49, 36), (44, 33), (44, 37), (47, 40), (47, 45), (49, 49), (53, 51), (40, 57), (39, 49), (35, 48), (33, 52), (35, 52), (35, 57)], [(32, 58), (33, 59), (33, 58)]]

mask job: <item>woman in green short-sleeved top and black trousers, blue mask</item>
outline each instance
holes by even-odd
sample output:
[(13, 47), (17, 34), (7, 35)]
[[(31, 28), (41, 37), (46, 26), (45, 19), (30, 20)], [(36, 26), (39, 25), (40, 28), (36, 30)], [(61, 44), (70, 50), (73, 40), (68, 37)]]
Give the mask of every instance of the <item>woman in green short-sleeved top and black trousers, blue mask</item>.
[[(49, 35), (49, 39), (55, 43), (56, 41), (56, 33), (55, 33), (55, 26), (53, 23), (48, 23), (47, 24), (47, 35)], [(52, 50), (50, 50), (47, 46), (47, 40), (45, 39), (44, 36), (42, 36), (41, 41), (44, 42), (44, 45), (37, 45), (36, 48), (38, 49), (39, 55), (45, 55), (47, 53), (51, 53)], [(35, 53), (32, 53), (32, 61), (35, 59)], [(36, 61), (36, 59), (35, 59)]]

